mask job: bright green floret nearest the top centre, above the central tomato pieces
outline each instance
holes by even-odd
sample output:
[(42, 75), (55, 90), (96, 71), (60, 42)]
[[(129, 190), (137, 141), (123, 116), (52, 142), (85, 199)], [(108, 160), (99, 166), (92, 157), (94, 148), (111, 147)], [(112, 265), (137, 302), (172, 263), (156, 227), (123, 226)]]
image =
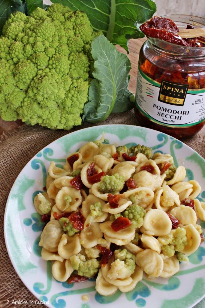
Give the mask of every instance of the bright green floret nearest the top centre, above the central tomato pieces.
[(124, 176), (118, 173), (103, 176), (98, 186), (101, 193), (112, 193), (113, 195), (119, 193), (123, 187)]

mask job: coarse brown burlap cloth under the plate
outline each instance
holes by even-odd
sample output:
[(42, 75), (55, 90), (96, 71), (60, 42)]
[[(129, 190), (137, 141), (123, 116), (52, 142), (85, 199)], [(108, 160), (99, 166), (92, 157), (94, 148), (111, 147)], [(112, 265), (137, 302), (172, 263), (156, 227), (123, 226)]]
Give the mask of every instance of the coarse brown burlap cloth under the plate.
[[(110, 115), (107, 120), (101, 122), (103, 124), (130, 124), (138, 125), (133, 111), (127, 111), (123, 114)], [(98, 125), (98, 124), (96, 124)], [(72, 129), (75, 130), (90, 127), (93, 124), (84, 123), (79, 127)], [(24, 286), (21, 279), (15, 272), (4, 242), (3, 237), (3, 219), (6, 200), (9, 195), (10, 189), (22, 168), (27, 162), (42, 148), (57, 138), (69, 133), (63, 130), (49, 130), (46, 128), (29, 127), (23, 125), (15, 131), (3, 133), (0, 137), (0, 307), (37, 307), (45, 308), (44, 305), (16, 305), (12, 301), (33, 301), (36, 298)], [(205, 127), (195, 137), (190, 140), (182, 140), (195, 151), (197, 151), (203, 158), (205, 158)], [(9, 301), (9, 302), (8, 302)], [(8, 304), (9, 303), (9, 304)], [(205, 308), (205, 300), (196, 307)], [(74, 307), (73, 308), (77, 308)]]

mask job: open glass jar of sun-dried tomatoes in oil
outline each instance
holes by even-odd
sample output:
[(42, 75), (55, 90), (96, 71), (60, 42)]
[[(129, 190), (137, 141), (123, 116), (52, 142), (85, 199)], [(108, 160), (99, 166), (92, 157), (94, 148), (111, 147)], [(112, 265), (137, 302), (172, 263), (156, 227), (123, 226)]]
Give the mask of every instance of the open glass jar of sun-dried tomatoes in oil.
[[(179, 29), (205, 27), (205, 19), (167, 15)], [(140, 125), (175, 138), (193, 136), (205, 124), (205, 39), (185, 47), (148, 38), (140, 49), (135, 115)]]

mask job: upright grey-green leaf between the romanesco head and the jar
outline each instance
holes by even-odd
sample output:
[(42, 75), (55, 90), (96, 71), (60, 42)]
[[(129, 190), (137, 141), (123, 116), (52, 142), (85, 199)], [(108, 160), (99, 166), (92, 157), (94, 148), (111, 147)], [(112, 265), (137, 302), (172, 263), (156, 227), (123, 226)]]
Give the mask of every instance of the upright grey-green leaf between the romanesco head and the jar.
[(117, 51), (104, 35), (93, 40), (92, 55), (95, 79), (89, 88), (89, 102), (85, 104), (83, 120), (96, 123), (107, 119), (115, 103), (115, 112), (130, 108), (127, 86), (131, 66), (127, 55)]

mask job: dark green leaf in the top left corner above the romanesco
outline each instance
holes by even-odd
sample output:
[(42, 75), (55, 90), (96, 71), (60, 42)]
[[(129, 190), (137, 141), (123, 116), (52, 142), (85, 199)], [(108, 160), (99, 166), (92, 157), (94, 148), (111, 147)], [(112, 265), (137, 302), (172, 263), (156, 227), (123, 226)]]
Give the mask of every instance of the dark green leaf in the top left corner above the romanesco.
[(26, 0), (0, 0), (0, 35), (2, 34), (2, 28), (6, 19), (15, 11), (27, 14)]

